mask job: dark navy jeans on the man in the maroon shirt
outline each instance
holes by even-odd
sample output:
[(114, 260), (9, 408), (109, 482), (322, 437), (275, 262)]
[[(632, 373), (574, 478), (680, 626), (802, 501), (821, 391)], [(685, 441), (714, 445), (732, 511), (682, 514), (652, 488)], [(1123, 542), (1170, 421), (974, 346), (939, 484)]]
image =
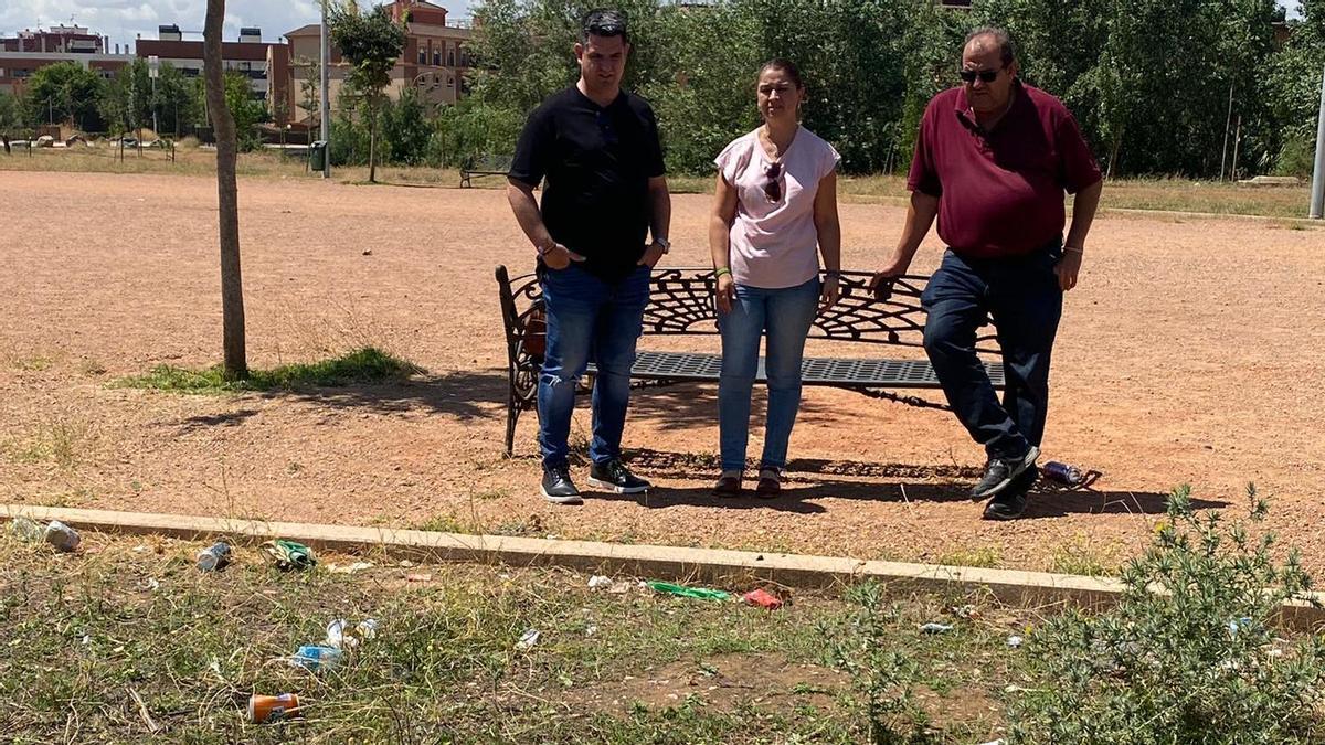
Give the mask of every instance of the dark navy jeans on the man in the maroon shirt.
[[(925, 351), (953, 412), (990, 457), (1024, 457), (1044, 437), (1049, 355), (1063, 317), (1055, 241), (1016, 258), (963, 258), (951, 251), (921, 296)], [(975, 355), (975, 333), (994, 319), (1007, 390), (1002, 403)]]

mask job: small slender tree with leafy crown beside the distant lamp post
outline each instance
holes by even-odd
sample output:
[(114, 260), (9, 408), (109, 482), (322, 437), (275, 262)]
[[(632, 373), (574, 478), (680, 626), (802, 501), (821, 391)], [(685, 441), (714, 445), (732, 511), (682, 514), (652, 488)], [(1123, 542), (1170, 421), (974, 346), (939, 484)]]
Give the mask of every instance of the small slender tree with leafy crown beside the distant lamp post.
[(350, 86), (368, 103), (368, 182), (374, 183), (378, 180), (378, 114), (387, 98), (386, 87), (391, 85), (391, 69), (405, 49), (405, 20), (392, 20), (386, 5), (364, 13), (356, 0), (344, 0), (329, 3), (327, 23), (331, 42), (350, 62)]

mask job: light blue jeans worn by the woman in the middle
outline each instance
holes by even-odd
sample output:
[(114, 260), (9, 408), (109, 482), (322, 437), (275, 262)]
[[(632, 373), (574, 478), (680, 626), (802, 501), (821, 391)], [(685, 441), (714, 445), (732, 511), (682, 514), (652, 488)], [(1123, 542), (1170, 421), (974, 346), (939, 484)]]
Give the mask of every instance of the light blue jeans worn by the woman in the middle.
[(750, 390), (759, 371), (759, 338), (767, 331), (768, 419), (763, 465), (787, 465), (787, 440), (800, 408), (800, 359), (819, 306), (819, 277), (780, 289), (735, 286), (730, 313), (718, 313), (722, 376), (718, 379), (718, 443), (723, 471), (743, 471), (750, 439)]

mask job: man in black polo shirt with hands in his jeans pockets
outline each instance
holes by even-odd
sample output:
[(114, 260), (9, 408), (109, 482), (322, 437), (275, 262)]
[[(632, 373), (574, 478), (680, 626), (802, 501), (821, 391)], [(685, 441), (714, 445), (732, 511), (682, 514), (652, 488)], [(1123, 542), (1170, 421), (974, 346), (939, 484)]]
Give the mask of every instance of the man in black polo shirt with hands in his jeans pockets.
[[(649, 270), (669, 248), (672, 200), (653, 110), (621, 90), (629, 50), (620, 13), (584, 16), (575, 45), (579, 82), (529, 115), (506, 187), (515, 219), (538, 251), (547, 310), (538, 443), (542, 493), (556, 504), (582, 504), (570, 477), (567, 437), (576, 382), (591, 359), (598, 375), (588, 483), (617, 493), (649, 488), (621, 463), (621, 431)], [(539, 208), (534, 188), (545, 178)]]

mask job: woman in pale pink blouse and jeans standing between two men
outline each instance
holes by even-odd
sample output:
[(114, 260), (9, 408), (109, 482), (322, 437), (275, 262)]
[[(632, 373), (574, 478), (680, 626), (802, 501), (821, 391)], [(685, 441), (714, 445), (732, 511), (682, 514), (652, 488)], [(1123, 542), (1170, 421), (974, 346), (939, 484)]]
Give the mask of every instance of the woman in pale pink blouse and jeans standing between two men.
[[(709, 248), (722, 333), (718, 428), (722, 475), (714, 493), (741, 493), (750, 430), (750, 391), (767, 335), (768, 414), (757, 497), (780, 490), (787, 440), (800, 407), (800, 359), (819, 308), (837, 302), (841, 229), (840, 160), (831, 144), (800, 126), (806, 86), (786, 60), (759, 69), (763, 125), (733, 141), (714, 160), (717, 194)], [(819, 256), (823, 256), (823, 282)]]

